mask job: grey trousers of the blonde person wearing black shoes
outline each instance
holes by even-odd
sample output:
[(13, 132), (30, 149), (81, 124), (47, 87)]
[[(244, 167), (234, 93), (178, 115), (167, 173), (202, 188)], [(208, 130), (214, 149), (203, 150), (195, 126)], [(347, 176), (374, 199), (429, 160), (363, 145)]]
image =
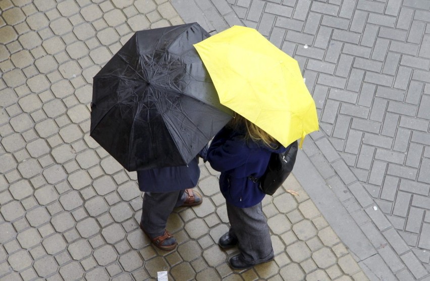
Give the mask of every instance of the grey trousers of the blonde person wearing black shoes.
[(258, 264), (273, 259), (272, 240), (261, 202), (249, 208), (239, 208), (227, 202), (227, 215), (230, 232), (238, 239), (244, 261)]

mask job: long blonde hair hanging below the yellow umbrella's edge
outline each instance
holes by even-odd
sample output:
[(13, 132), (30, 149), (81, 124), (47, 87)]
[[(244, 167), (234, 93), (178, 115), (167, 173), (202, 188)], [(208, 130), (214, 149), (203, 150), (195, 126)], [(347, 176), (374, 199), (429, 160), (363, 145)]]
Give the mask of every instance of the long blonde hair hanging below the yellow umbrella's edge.
[(229, 126), (238, 129), (241, 126), (246, 128), (245, 140), (252, 140), (253, 142), (262, 142), (264, 145), (271, 148), (278, 148), (279, 142), (271, 135), (261, 130), (254, 123), (244, 118), (243, 116), (234, 113), (233, 119), (230, 121)]

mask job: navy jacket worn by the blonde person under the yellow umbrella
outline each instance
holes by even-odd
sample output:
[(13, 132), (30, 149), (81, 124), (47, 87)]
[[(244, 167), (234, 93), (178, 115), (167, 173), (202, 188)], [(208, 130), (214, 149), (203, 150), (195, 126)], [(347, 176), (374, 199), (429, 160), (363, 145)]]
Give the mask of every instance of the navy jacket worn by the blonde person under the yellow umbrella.
[(240, 208), (252, 207), (264, 198), (264, 193), (248, 177), (259, 178), (266, 170), (272, 152), (287, 150), (281, 146), (272, 149), (262, 143), (244, 140), (244, 132), (224, 127), (212, 140), (207, 160), (221, 172), (220, 189), (226, 201)]

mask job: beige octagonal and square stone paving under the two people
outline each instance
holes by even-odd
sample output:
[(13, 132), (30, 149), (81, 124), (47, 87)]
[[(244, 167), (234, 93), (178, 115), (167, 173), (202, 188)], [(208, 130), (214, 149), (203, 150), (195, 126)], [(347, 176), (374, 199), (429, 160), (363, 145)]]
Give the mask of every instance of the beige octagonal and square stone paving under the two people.
[(172, 280), (368, 279), (294, 176), (286, 186), (299, 196), (263, 201), (272, 262), (230, 269), (236, 250), (216, 245), (228, 230), (218, 173), (203, 163), (203, 204), (169, 220), (177, 250), (142, 234), (135, 173), (88, 136), (91, 83), (134, 31), (183, 23), (171, 2), (0, 0), (0, 10), (0, 280), (145, 280), (165, 270)]

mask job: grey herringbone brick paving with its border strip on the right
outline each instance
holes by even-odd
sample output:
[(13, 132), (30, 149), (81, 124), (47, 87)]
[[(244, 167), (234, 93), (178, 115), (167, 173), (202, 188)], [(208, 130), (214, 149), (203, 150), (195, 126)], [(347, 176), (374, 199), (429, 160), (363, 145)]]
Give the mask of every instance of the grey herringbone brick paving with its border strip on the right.
[[(254, 27), (298, 60), (322, 129), (304, 152), (326, 183), (305, 190), (370, 278), (427, 280), (430, 1), (193, 2), (182, 9), (185, 1), (172, 0), (186, 21)], [(318, 202), (327, 191), (359, 226), (366, 251)]]

